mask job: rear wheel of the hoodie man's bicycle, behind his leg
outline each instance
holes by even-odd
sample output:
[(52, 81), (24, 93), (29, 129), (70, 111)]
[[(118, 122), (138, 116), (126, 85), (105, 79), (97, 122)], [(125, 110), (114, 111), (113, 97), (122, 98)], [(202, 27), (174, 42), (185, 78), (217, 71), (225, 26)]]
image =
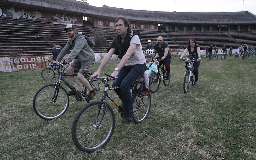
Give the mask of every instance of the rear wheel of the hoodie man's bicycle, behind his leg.
[[(101, 79), (91, 80), (89, 81), (93, 90), (96, 90), (96, 94), (91, 101), (99, 101), (103, 97), (104, 89), (105, 89), (105, 81)], [(84, 86), (84, 95), (88, 94), (90, 91)]]

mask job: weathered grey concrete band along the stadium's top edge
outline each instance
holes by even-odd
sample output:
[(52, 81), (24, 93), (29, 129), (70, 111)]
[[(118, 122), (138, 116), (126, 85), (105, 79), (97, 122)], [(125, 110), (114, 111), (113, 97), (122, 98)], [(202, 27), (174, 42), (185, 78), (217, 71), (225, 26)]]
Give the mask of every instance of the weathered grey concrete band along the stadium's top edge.
[(190, 24), (256, 24), (256, 16), (248, 11), (241, 12), (158, 12), (123, 8), (91, 6), (75, 0), (0, 0), (4, 4), (59, 10), (78, 13), (88, 17), (116, 18), (124, 16), (133, 21), (152, 21), (157, 23), (190, 23)]

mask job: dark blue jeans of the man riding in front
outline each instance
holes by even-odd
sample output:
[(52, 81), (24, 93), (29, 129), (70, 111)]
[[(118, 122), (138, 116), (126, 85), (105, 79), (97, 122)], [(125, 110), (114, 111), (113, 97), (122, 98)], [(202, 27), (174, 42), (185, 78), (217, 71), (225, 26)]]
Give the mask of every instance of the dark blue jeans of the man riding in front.
[(130, 114), (133, 111), (132, 95), (130, 92), (131, 86), (139, 76), (143, 75), (145, 70), (145, 64), (124, 66), (117, 75), (118, 79), (113, 82), (112, 86), (120, 86), (120, 88), (114, 89), (114, 91), (120, 100), (122, 100), (127, 114)]

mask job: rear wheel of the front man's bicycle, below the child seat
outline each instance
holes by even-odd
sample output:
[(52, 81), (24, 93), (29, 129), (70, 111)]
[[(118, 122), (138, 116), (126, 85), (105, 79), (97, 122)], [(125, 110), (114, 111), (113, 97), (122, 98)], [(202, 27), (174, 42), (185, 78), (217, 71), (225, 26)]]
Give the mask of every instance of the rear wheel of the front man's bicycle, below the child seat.
[(141, 123), (147, 119), (151, 107), (151, 95), (137, 96), (136, 93), (132, 96), (133, 100), (133, 121), (134, 123)]

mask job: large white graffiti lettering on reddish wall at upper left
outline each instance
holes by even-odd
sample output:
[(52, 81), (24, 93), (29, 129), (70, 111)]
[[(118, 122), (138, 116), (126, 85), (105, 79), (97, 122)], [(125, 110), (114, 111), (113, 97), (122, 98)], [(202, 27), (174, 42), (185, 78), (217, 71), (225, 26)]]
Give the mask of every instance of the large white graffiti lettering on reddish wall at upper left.
[(44, 17), (44, 14), (38, 11), (25, 12), (25, 9), (21, 9), (21, 11), (16, 11), (14, 7), (7, 9), (7, 13), (10, 18), (13, 19), (28, 19), (28, 20), (47, 20)]

